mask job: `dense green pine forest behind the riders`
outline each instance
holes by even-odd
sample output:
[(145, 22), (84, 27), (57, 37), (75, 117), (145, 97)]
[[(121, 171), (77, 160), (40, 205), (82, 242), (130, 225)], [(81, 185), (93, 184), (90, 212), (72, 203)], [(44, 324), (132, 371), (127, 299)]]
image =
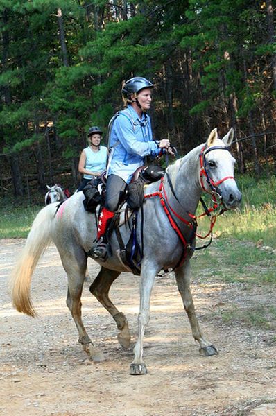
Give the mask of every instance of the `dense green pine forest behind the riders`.
[(239, 172), (274, 175), (271, 0), (0, 0), (0, 14), (1, 197), (74, 191), (88, 128), (106, 133), (137, 75), (155, 84), (157, 139), (184, 155), (233, 127)]

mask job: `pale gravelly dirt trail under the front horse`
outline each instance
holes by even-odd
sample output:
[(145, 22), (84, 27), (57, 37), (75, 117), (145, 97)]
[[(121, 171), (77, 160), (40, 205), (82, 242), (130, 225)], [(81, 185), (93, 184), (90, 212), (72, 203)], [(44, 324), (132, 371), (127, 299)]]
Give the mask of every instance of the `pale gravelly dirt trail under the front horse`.
[[(273, 334), (225, 325), (220, 304), (247, 293), (235, 285), (193, 284), (202, 330), (220, 354), (200, 357), (173, 275), (157, 278), (146, 331), (146, 376), (130, 376), (132, 349), (117, 343), (114, 321), (83, 291), (83, 320), (106, 361), (93, 364), (78, 344), (65, 304), (66, 275), (51, 246), (33, 277), (33, 319), (12, 309), (7, 279), (24, 241), (0, 241), (0, 415), (2, 416), (212, 416), (276, 415), (276, 343)], [(89, 260), (93, 280), (98, 265)], [(250, 296), (254, 296), (250, 293)], [(259, 302), (269, 302), (267, 293)], [(111, 297), (137, 329), (139, 277), (124, 273)]]

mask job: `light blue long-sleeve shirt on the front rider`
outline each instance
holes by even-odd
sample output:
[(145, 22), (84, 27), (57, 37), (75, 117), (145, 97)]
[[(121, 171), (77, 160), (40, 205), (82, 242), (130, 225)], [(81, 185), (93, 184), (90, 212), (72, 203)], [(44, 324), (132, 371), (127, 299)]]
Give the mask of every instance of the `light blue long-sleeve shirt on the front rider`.
[[(115, 145), (115, 146), (114, 146)], [(144, 165), (148, 155), (160, 153), (151, 130), (150, 117), (141, 119), (131, 105), (119, 113), (110, 132), (110, 146), (114, 147), (108, 175), (117, 175), (129, 183), (137, 168)]]

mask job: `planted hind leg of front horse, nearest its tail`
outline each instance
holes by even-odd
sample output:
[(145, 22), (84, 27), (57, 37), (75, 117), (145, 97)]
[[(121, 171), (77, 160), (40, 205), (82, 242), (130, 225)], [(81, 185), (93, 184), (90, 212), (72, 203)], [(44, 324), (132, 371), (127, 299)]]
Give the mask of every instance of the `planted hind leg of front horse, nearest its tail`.
[(62, 254), (62, 264), (68, 277), (67, 306), (71, 311), (76, 327), (78, 329), (78, 342), (83, 346), (83, 350), (94, 362), (103, 361), (103, 353), (94, 347), (83, 325), (81, 316), (80, 297), (83, 292), (83, 282), (85, 280), (85, 270), (87, 267), (87, 257), (81, 248), (75, 248), (74, 252)]

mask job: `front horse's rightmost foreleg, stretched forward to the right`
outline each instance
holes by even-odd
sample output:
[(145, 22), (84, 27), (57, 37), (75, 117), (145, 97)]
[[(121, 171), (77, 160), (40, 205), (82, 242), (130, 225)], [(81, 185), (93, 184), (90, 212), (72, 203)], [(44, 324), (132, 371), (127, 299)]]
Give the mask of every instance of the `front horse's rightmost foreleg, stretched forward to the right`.
[(214, 354), (218, 354), (216, 347), (214, 347), (212, 343), (209, 343), (209, 341), (205, 340), (200, 331), (190, 289), (191, 266), (189, 260), (184, 263), (182, 268), (175, 270), (175, 277), (178, 284), (178, 290), (180, 291), (180, 295), (184, 304), (184, 309), (187, 312), (189, 318), (193, 338), (200, 345), (200, 355), (212, 356)]

